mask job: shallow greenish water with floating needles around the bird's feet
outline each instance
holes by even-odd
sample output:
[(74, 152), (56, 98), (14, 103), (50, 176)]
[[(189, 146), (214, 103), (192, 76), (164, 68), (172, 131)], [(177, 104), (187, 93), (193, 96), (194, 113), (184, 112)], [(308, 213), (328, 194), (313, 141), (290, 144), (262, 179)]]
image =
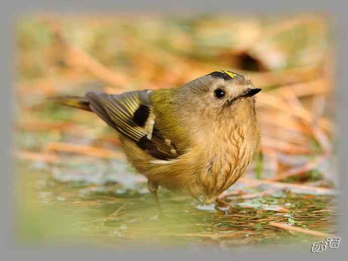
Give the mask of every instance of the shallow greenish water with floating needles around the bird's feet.
[(235, 196), (228, 199), (231, 209), (223, 211), (160, 189), (166, 215), (161, 218), (144, 178), (123, 161), (93, 159), (54, 166), (23, 161), (17, 164), (17, 173), (21, 181), (18, 235), (24, 242), (87, 242), (113, 248), (125, 244), (219, 248), (291, 244), (310, 249), (311, 242), (324, 238), (268, 223), (335, 232), (336, 199), (332, 196), (282, 190), (255, 199)]

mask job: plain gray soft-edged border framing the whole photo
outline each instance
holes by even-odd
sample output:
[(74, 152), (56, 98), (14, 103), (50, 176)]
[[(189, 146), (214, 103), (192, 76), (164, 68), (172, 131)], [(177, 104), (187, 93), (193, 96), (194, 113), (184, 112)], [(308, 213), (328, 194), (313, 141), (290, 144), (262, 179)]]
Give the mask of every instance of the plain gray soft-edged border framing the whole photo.
[[(219, 260), (231, 259), (233, 257), (242, 258), (271, 258), (275, 260), (294, 259), (296, 257), (302, 257), (309, 259), (321, 259), (328, 257), (340, 257), (344, 256), (344, 250), (346, 246), (347, 237), (347, 217), (348, 217), (348, 195), (347, 195), (347, 145), (348, 140), (346, 134), (348, 133), (347, 117), (347, 89), (348, 86), (348, 74), (345, 73), (348, 68), (347, 60), (347, 14), (346, 7), (340, 1), (276, 1), (276, 0), (263, 0), (254, 2), (232, 2), (228, 0), (197, 0), (187, 2), (184, 0), (176, 0), (175, 2), (169, 0), (151, 0), (140, 1), (133, 0), (127, 2), (112, 1), (112, 0), (84, 0), (84, 1), (66, 1), (57, 2), (45, 2), (40, 0), (32, 0), (30, 3), (12, 1), (3, 3), (0, 16), (0, 28), (2, 32), (2, 40), (0, 41), (0, 63), (1, 63), (1, 82), (2, 88), (0, 89), (0, 119), (2, 124), (0, 126), (0, 161), (2, 167), (1, 177), (1, 206), (2, 206), (2, 222), (1, 227), (1, 253), (2, 257), (6, 259), (35, 259), (35, 260), (62, 260), (62, 259), (83, 259), (83, 260), (95, 260), (100, 258), (112, 258), (113, 260), (128, 260), (128, 259), (179, 259), (179, 258), (200, 258), (202, 260), (211, 260), (218, 258)], [(112, 251), (109, 249), (102, 250), (100, 248), (92, 249), (88, 246), (88, 249), (81, 245), (73, 246), (52, 246), (47, 242), (40, 248), (23, 248), (17, 245), (14, 238), (14, 222), (16, 215), (14, 213), (14, 183), (11, 161), (11, 148), (12, 148), (12, 132), (11, 125), (12, 119), (15, 116), (15, 110), (12, 107), (13, 95), (13, 77), (14, 72), (12, 70), (14, 65), (14, 48), (13, 48), (13, 29), (16, 18), (21, 15), (49, 11), (58, 13), (75, 13), (75, 12), (89, 12), (89, 13), (117, 13), (117, 12), (165, 12), (165, 13), (180, 13), (190, 15), (192, 12), (236, 12), (237, 14), (252, 14), (252, 13), (264, 13), (264, 14), (298, 14), (305, 12), (323, 12), (328, 14), (332, 18), (334, 27), (334, 36), (336, 37), (337, 46), (337, 68), (336, 68), (336, 101), (337, 105), (337, 123), (339, 127), (339, 144), (338, 144), (338, 170), (340, 178), (340, 215), (339, 215), (339, 231), (342, 238), (340, 247), (338, 249), (325, 251), (321, 254), (312, 254), (310, 249), (252, 249), (249, 252), (234, 251), (224, 252), (217, 254), (213, 248), (209, 249), (196, 249), (193, 251), (180, 250), (174, 251), (173, 249), (139, 249), (125, 251)], [(10, 184), (10, 185), (9, 185)]]

